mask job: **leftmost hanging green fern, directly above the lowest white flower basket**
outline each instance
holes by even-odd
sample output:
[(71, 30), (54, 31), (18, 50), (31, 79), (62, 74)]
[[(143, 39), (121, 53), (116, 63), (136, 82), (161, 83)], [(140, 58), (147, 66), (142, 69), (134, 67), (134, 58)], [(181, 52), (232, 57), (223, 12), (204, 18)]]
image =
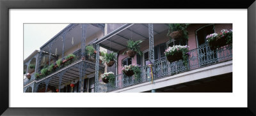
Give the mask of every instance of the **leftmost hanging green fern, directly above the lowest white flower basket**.
[(117, 53), (116, 52), (112, 52), (112, 53), (106, 53), (104, 54), (103, 57), (103, 61), (106, 62), (106, 64), (108, 65), (108, 67), (111, 67), (115, 64), (117, 58), (116, 58)]

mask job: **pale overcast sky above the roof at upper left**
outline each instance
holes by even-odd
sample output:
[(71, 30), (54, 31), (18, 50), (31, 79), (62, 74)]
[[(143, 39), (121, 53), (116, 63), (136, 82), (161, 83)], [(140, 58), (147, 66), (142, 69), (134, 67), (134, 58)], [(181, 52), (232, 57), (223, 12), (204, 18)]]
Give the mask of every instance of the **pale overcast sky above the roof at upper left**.
[(24, 58), (58, 34), (68, 24), (24, 24)]

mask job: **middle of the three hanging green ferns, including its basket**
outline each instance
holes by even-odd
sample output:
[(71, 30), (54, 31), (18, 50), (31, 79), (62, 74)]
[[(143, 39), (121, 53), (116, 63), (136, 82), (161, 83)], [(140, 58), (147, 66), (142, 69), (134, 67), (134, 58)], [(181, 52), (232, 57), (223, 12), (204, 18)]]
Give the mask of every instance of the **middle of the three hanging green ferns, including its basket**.
[(126, 53), (129, 57), (134, 57), (137, 53), (139, 55), (142, 55), (142, 52), (140, 50), (140, 43), (143, 41), (138, 40), (138, 41), (133, 41), (129, 40), (127, 41), (127, 50), (123, 53), (123, 55)]

